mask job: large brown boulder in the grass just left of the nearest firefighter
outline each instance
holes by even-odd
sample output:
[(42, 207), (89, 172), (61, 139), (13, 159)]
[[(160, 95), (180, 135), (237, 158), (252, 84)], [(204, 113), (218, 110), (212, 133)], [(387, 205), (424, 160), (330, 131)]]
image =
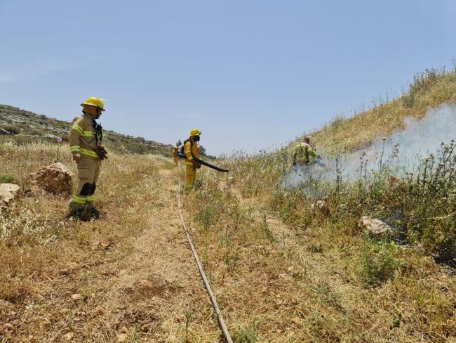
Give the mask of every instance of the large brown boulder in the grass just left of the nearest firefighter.
[(73, 173), (60, 162), (42, 167), (29, 175), (32, 181), (54, 194), (71, 193), (72, 177)]

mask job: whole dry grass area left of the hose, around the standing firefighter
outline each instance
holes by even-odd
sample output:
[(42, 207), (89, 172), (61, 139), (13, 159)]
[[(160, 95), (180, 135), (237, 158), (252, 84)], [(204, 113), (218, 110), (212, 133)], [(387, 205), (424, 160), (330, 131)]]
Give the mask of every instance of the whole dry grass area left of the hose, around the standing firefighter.
[(105, 216), (79, 222), (65, 219), (67, 196), (25, 181), (57, 159), (75, 171), (58, 145), (1, 145), (1, 173), (27, 191), (0, 216), (0, 340), (217, 339), (175, 212), (180, 172), (170, 160), (109, 154), (97, 192)]

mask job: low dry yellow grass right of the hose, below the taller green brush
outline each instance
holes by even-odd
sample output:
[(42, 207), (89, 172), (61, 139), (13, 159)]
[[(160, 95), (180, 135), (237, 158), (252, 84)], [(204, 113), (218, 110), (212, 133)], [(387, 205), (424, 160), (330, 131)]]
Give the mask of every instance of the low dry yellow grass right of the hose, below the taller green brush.
[[(243, 197), (246, 175), (234, 181), (219, 176), (203, 173), (187, 212), (237, 342), (456, 338), (456, 282), (430, 257), (394, 246), (391, 254), (401, 268), (372, 287), (363, 268), (366, 249), (376, 242), (318, 212), (306, 222), (292, 209), (293, 220), (285, 224), (290, 216), (274, 215), (264, 202), (267, 193)], [(311, 212), (309, 203), (294, 201)]]

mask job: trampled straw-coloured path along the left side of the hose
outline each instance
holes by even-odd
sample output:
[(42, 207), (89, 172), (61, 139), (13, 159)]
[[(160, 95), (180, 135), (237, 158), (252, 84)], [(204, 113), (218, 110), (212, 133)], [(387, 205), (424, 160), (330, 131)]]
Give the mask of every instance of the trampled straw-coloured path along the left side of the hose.
[[(25, 309), (18, 337), (34, 342), (183, 342), (217, 321), (194, 264), (175, 203), (177, 171), (161, 170), (160, 202), (140, 214), (149, 225), (101, 247), (95, 261), (65, 262)], [(128, 223), (126, 223), (128, 225)], [(13, 310), (12, 310), (13, 311)], [(0, 339), (1, 341), (1, 339)]]

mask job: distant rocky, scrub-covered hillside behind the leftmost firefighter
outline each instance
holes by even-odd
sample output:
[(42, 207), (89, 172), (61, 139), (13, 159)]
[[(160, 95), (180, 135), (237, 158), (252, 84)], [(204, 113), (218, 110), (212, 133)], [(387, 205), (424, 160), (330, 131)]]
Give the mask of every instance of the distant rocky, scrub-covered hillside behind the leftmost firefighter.
[[(55, 141), (61, 137), (65, 140), (71, 123), (52, 119), (45, 115), (0, 105), (0, 140), (18, 143), (36, 141)], [(105, 130), (103, 135), (105, 145), (114, 150), (123, 146), (130, 153), (153, 153), (170, 156), (173, 145), (147, 141), (142, 137), (132, 137)]]

